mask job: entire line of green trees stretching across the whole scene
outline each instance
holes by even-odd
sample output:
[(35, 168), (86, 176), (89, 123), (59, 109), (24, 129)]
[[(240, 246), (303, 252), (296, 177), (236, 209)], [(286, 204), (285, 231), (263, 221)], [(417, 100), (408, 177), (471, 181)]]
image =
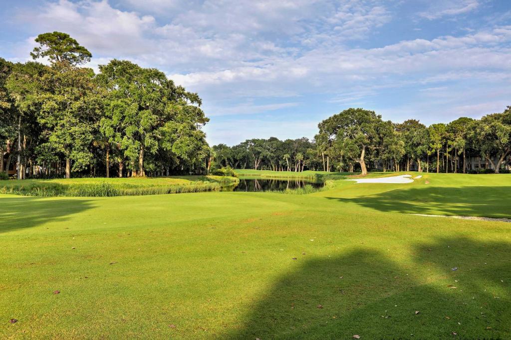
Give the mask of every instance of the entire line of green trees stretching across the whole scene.
[(511, 163), (511, 107), (430, 126), (350, 108), (321, 121), (313, 140), (254, 138), (210, 147), (200, 97), (164, 72), (114, 59), (96, 74), (83, 67), (91, 53), (68, 34), (44, 33), (35, 41), (34, 61), (0, 58), (0, 174), (15, 166), (19, 179), (202, 174), (222, 167), (464, 173), (474, 156), (479, 169), (500, 172)]

